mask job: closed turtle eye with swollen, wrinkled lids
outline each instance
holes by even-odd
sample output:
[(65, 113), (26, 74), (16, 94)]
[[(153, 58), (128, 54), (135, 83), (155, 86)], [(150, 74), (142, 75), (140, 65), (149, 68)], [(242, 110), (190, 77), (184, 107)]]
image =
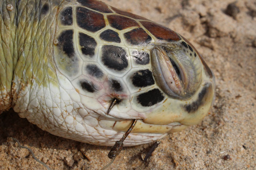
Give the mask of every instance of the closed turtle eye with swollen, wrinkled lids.
[(202, 82), (202, 63), (195, 50), (184, 43), (162, 44), (151, 49), (155, 80), (175, 99), (189, 99)]

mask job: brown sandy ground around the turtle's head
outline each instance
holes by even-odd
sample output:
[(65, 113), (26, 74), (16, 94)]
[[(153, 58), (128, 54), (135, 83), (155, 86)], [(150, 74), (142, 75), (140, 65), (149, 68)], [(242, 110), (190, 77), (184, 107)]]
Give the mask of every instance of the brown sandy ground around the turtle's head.
[[(103, 1), (186, 37), (217, 84), (215, 104), (201, 124), (160, 140), (146, 162), (141, 155), (152, 143), (126, 147), (110, 168), (256, 169), (256, 1)], [(12, 111), (0, 115), (0, 134), (0, 169), (46, 169), (11, 137), (51, 169), (100, 169), (109, 162), (110, 147), (53, 136)]]

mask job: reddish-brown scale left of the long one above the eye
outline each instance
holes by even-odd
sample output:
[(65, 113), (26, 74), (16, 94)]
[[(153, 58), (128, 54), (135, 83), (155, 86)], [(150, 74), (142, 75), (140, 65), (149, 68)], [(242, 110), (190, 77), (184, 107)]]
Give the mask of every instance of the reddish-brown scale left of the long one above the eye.
[(119, 30), (139, 26), (135, 20), (120, 15), (108, 15), (108, 21), (111, 27)]

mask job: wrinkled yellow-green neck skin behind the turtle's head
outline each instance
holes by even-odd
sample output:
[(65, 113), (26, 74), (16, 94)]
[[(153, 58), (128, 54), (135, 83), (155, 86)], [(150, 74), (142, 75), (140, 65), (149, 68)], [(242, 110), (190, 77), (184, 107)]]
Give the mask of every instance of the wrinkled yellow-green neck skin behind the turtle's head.
[(35, 82), (44, 84), (49, 79), (56, 81), (51, 44), (61, 3), (0, 1), (0, 113), (15, 106), (23, 87)]

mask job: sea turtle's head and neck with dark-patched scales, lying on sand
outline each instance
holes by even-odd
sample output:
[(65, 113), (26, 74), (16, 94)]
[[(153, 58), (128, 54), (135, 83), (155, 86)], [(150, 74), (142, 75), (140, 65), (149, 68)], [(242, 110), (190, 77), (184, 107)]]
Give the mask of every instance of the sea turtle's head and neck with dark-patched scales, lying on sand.
[(96, 0), (3, 0), (0, 16), (0, 112), (105, 146), (137, 119), (124, 142), (133, 146), (210, 109), (212, 71), (169, 28)]

